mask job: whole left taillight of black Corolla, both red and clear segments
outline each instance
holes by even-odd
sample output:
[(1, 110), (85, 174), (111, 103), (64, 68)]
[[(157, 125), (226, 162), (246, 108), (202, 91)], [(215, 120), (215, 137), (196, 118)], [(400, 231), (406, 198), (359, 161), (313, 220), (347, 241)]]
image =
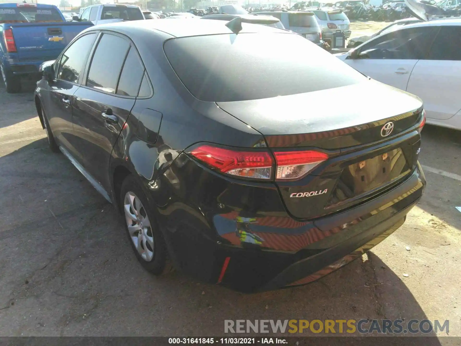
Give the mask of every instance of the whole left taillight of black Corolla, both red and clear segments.
[(328, 155), (318, 151), (276, 151), (276, 164), (268, 151), (232, 150), (211, 145), (201, 145), (193, 149), (196, 159), (216, 168), (221, 173), (253, 179), (271, 179), (275, 167), (276, 180), (301, 179), (328, 159)]

